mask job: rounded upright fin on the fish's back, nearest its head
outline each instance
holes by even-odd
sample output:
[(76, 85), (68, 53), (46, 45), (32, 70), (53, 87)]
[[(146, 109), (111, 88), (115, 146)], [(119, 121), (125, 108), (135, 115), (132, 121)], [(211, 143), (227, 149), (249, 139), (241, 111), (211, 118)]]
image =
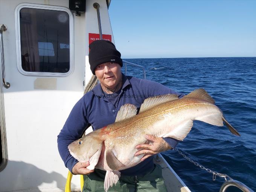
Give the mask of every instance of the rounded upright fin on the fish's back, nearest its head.
[(120, 110), (117, 113), (116, 121), (118, 122), (123, 119), (127, 119), (130, 117), (133, 117), (137, 114), (137, 108), (132, 104), (125, 104), (122, 107), (120, 107)]

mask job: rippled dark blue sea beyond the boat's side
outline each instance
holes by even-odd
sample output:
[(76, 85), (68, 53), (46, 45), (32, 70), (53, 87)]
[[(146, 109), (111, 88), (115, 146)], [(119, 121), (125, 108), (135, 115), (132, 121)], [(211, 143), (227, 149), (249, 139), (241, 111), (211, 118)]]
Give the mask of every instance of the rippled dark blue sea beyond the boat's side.
[[(146, 79), (180, 93), (204, 88), (223, 111), (226, 126), (194, 121), (177, 148), (193, 161), (227, 174), (256, 191), (256, 57), (123, 59), (145, 68)], [(125, 65), (122, 67), (125, 72)], [(140, 67), (127, 64), (126, 75), (144, 78)], [(163, 152), (169, 165), (192, 192), (217, 192), (224, 178), (200, 169), (175, 150)], [(229, 187), (229, 192), (241, 190)]]

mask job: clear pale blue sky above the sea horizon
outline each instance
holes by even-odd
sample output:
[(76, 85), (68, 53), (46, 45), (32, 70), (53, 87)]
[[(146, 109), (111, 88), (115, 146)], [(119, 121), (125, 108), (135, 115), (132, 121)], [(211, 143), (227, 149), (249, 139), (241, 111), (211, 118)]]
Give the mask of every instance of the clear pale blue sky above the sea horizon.
[(111, 0), (122, 58), (256, 56), (255, 0)]

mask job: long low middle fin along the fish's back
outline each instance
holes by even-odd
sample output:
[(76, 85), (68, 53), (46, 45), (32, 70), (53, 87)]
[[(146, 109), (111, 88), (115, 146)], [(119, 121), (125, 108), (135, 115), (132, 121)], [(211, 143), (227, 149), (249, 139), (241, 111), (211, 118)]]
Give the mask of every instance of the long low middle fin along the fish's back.
[(178, 99), (177, 94), (164, 94), (159, 96), (154, 96), (152, 98), (147, 98), (144, 100), (143, 104), (140, 107), (140, 113), (148, 110), (149, 108), (155, 107), (162, 103)]

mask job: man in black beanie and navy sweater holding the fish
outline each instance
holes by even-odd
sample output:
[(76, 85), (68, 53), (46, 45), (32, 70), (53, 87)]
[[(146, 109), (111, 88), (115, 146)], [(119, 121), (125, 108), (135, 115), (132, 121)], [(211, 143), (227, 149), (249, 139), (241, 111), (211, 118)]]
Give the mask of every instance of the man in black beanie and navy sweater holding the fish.
[[(100, 84), (86, 93), (73, 107), (58, 136), (58, 149), (65, 166), (73, 174), (84, 175), (83, 191), (100, 192), (104, 191), (105, 171), (88, 170), (86, 167), (90, 165), (89, 162), (78, 162), (70, 155), (67, 146), (82, 136), (88, 123), (92, 125), (93, 130), (114, 123), (120, 107), (124, 104), (133, 104), (139, 109), (146, 98), (169, 93), (182, 97), (184, 94), (154, 81), (123, 75), (121, 54), (110, 41), (94, 41), (89, 47), (90, 69)], [(152, 155), (175, 148), (177, 140), (150, 135), (145, 138), (153, 144), (136, 146), (136, 156), (145, 154), (142, 162), (120, 171), (119, 182), (108, 191), (166, 191), (162, 169), (154, 165)]]

